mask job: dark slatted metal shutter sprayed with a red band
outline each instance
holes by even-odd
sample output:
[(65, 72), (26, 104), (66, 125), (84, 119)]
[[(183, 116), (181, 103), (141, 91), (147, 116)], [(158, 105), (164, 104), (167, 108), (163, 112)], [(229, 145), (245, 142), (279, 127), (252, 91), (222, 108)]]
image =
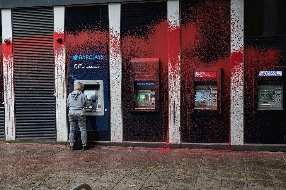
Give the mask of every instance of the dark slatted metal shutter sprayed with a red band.
[(16, 140), (56, 140), (53, 8), (12, 10)]

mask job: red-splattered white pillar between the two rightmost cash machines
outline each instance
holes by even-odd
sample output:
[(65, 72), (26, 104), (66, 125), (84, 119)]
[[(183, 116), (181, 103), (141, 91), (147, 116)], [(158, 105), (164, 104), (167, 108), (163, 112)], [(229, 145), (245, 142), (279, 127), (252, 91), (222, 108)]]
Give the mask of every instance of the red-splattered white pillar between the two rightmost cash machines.
[(230, 144), (243, 146), (243, 0), (230, 1)]

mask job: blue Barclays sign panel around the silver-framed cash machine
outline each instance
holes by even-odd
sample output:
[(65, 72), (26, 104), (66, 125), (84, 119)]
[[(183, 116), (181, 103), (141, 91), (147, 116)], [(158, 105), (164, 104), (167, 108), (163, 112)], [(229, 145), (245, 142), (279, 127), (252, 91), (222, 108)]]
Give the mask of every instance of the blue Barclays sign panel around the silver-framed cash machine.
[[(91, 52), (74, 52), (69, 57), (69, 90), (74, 91), (76, 80), (103, 81), (103, 115), (86, 115), (86, 130), (109, 131), (109, 62), (108, 47), (94, 46)], [(102, 90), (102, 89), (101, 89)], [(77, 126), (77, 130), (79, 127)]]

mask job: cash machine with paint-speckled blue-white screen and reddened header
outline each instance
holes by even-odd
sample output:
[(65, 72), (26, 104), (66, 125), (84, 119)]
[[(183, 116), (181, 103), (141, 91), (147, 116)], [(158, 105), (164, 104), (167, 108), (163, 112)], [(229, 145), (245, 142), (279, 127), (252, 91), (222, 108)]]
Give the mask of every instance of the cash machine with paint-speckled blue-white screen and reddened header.
[(221, 113), (221, 68), (190, 69), (190, 104), (192, 114)]

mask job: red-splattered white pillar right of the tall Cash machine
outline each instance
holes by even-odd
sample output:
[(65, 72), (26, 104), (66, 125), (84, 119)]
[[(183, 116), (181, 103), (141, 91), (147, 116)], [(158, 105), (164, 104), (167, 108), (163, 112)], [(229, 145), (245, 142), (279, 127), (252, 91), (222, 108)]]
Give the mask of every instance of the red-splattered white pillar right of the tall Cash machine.
[(171, 148), (181, 144), (180, 1), (168, 1), (168, 118)]

